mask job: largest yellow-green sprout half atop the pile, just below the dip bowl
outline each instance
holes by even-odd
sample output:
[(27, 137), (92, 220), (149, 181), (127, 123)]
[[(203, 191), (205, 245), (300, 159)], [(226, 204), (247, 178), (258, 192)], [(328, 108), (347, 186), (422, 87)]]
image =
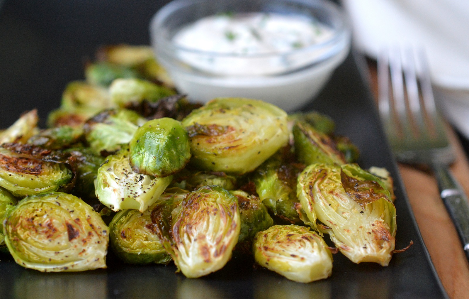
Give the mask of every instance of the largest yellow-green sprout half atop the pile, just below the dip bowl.
[(191, 163), (212, 171), (244, 174), (288, 141), (287, 114), (243, 98), (217, 98), (192, 111), (182, 125), (190, 137)]

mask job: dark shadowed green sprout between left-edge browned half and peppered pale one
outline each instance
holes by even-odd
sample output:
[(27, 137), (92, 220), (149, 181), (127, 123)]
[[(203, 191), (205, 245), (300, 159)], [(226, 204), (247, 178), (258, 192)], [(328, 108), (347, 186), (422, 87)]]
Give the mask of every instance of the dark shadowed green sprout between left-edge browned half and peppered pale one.
[(96, 200), (94, 180), (98, 176), (99, 166), (105, 159), (86, 147), (70, 148), (65, 152), (70, 153), (76, 163), (76, 182), (70, 193), (87, 203), (90, 203), (91, 199)]

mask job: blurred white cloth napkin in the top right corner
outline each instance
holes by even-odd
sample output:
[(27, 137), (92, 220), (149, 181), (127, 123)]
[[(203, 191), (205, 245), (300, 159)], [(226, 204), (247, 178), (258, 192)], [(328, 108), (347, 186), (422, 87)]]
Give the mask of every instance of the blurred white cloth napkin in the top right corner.
[(469, 138), (469, 0), (342, 0), (354, 42), (376, 58), (383, 46), (423, 47), (437, 98)]

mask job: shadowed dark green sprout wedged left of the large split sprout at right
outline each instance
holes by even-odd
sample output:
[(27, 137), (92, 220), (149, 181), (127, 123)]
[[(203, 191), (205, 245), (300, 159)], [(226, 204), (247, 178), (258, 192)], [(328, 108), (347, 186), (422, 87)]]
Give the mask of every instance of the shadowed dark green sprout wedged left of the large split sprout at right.
[(253, 181), (259, 198), (277, 220), (303, 224), (296, 211), (296, 178), (304, 166), (285, 163), (277, 153), (256, 169)]

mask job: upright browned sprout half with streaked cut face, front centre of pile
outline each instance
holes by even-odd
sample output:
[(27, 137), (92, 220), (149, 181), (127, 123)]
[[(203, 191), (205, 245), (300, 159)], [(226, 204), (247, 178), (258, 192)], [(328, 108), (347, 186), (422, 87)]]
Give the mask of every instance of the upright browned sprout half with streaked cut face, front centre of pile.
[(220, 186), (204, 186), (174, 206), (171, 200), (159, 203), (151, 220), (176, 266), (189, 278), (223, 268), (240, 234), (236, 197)]

